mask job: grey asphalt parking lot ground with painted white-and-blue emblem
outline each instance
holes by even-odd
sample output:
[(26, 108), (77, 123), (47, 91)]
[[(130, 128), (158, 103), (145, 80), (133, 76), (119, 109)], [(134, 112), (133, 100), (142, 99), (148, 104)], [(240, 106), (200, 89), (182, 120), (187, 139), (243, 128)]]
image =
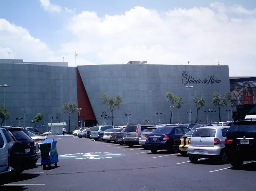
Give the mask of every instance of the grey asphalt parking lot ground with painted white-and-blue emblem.
[[(179, 153), (151, 153), (141, 145), (132, 148), (101, 140), (54, 137), (57, 167), (25, 170), (0, 190), (255, 190), (256, 162), (240, 169), (200, 159), (197, 164)], [(52, 165), (53, 166), (53, 165)]]

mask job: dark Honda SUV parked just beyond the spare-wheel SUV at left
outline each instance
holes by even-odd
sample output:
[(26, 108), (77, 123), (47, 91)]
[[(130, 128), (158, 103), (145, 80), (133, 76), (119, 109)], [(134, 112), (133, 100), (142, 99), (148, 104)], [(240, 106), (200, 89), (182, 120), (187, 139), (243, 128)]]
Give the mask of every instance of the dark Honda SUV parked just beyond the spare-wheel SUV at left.
[(24, 148), (23, 165), (34, 167), (37, 161), (36, 144), (34, 139), (22, 131), (22, 128), (8, 128), (17, 141), (20, 141)]

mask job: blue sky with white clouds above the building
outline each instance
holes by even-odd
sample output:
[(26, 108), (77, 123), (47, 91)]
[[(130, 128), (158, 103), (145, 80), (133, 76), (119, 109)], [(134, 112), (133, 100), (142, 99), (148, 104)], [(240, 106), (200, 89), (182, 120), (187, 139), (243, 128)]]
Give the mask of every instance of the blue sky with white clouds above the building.
[(228, 65), (255, 76), (255, 0), (1, 0), (0, 59)]

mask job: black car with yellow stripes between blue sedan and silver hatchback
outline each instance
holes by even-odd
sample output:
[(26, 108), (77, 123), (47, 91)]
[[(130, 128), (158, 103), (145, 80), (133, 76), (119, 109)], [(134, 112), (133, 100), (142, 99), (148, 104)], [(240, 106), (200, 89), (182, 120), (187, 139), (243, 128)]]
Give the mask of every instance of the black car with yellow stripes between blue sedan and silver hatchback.
[(194, 130), (199, 128), (199, 127), (211, 127), (211, 124), (209, 124), (209, 123), (196, 124), (191, 129), (191, 131), (187, 132), (185, 135), (183, 135), (183, 137), (175, 137), (174, 138), (173, 149), (176, 152), (180, 152), (180, 154), (182, 154), (182, 155), (186, 155), (187, 154), (189, 138), (191, 137), (191, 135), (194, 132)]

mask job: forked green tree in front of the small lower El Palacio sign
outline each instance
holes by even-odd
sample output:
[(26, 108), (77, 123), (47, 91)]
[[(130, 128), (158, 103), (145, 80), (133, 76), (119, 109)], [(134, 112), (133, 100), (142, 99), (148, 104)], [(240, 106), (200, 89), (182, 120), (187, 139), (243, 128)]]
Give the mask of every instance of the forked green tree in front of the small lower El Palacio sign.
[(112, 114), (111, 122), (113, 125), (113, 110), (114, 108), (117, 108), (117, 109), (120, 108), (120, 104), (123, 98), (121, 98), (121, 94), (117, 94), (115, 97), (107, 96), (105, 93), (100, 93), (99, 95), (100, 95), (100, 98), (102, 99), (102, 103), (108, 105), (108, 108), (111, 111), (111, 114)]

